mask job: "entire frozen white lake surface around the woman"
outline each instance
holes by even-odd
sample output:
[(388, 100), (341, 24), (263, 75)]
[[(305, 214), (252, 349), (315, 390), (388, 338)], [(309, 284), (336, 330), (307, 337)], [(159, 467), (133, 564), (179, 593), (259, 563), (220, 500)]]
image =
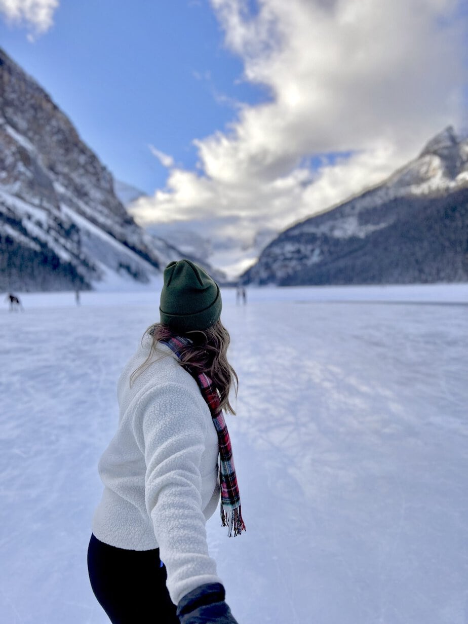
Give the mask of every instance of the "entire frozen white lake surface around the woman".
[[(468, 286), (223, 301), (247, 532), (215, 514), (208, 537), (239, 623), (466, 624)], [(158, 293), (23, 303), (0, 310), (0, 622), (104, 624), (85, 563), (97, 461)]]

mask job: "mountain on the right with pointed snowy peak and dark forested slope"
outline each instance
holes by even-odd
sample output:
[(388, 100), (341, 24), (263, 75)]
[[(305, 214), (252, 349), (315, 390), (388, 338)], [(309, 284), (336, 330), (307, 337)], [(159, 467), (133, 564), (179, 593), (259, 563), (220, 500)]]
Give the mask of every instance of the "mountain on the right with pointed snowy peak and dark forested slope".
[(282, 232), (242, 279), (468, 281), (468, 139), (447, 127), (380, 185)]

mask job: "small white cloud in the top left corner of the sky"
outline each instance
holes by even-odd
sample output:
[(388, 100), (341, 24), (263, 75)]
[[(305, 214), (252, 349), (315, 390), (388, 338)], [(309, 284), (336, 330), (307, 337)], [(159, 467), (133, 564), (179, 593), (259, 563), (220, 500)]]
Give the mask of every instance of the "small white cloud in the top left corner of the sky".
[(58, 6), (59, 0), (0, 0), (0, 13), (12, 24), (32, 27), (28, 39), (34, 41), (51, 28)]

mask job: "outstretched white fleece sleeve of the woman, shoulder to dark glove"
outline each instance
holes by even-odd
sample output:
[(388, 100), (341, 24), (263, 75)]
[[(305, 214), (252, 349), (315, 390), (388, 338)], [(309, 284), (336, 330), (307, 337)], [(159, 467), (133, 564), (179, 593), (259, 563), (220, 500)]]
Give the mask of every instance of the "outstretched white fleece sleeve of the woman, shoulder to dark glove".
[(145, 502), (176, 605), (200, 585), (220, 582), (202, 510), (200, 460), (209, 424), (204, 407), (200, 397), (172, 383), (142, 401)]

